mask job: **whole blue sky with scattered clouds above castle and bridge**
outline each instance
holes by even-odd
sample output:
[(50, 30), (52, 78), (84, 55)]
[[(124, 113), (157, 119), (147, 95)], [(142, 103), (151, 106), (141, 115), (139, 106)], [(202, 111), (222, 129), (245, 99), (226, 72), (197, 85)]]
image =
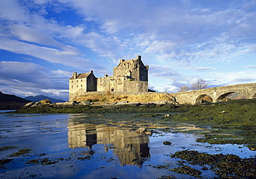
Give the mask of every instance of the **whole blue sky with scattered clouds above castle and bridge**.
[(142, 56), (149, 88), (256, 82), (256, 1), (0, 0), (0, 91), (68, 100), (73, 72)]

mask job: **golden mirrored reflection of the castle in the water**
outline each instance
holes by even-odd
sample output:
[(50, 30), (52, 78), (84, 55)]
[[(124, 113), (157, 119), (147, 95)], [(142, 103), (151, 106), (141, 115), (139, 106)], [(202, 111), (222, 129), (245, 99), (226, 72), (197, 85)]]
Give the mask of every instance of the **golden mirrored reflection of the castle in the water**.
[(104, 144), (106, 152), (113, 149), (121, 165), (140, 167), (149, 157), (148, 143), (149, 136), (116, 126), (68, 122), (68, 147), (93, 149), (93, 144)]

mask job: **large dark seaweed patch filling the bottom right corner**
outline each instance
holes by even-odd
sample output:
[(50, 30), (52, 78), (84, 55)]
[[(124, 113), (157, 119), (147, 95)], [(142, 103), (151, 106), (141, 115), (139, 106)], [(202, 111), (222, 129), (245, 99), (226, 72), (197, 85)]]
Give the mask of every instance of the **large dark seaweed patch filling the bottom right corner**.
[[(220, 178), (256, 178), (256, 158), (242, 159), (233, 154), (211, 155), (188, 150), (177, 151), (171, 157), (187, 160), (190, 164), (203, 166), (204, 169), (207, 169), (205, 165), (209, 165)], [(182, 169), (185, 170), (185, 168), (179, 170), (183, 171)]]

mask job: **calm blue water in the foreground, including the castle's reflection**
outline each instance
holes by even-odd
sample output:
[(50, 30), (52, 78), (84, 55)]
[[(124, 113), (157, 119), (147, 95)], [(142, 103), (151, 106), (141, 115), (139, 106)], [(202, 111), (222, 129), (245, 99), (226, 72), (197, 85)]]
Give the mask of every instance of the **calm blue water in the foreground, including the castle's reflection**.
[[(12, 159), (0, 167), (0, 178), (193, 178), (169, 171), (179, 167), (180, 160), (170, 158), (171, 153), (188, 149), (255, 156), (242, 145), (195, 142), (202, 136), (163, 131), (167, 126), (146, 118), (134, 120), (133, 115), (0, 113), (1, 147), (18, 147), (0, 151), (0, 159)], [(152, 135), (135, 133), (139, 126), (151, 129)], [(164, 145), (165, 141), (172, 144)], [(29, 153), (8, 157), (27, 147)], [(168, 169), (157, 168), (166, 164)], [(204, 178), (214, 176), (212, 171), (202, 172)]]

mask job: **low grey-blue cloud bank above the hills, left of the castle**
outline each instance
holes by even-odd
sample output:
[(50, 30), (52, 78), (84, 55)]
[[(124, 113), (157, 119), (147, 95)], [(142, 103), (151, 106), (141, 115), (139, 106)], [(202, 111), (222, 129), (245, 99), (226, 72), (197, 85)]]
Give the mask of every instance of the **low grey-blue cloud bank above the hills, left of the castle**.
[[(15, 86), (16, 89), (28, 93), (39, 93), (39, 91), (49, 88), (59, 91), (68, 89), (69, 77), (52, 73), (38, 64), (2, 61), (0, 66), (0, 86), (9, 88)], [(61, 73), (63, 74), (64, 71)]]

